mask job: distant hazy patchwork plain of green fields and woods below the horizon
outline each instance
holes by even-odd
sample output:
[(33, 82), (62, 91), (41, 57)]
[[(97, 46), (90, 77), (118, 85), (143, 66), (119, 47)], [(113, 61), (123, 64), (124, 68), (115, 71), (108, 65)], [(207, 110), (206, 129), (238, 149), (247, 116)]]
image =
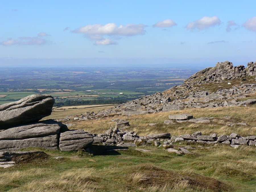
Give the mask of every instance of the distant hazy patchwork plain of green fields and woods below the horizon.
[(170, 67), (4, 68), (0, 104), (50, 94), (55, 106), (118, 104), (181, 84), (197, 69)]

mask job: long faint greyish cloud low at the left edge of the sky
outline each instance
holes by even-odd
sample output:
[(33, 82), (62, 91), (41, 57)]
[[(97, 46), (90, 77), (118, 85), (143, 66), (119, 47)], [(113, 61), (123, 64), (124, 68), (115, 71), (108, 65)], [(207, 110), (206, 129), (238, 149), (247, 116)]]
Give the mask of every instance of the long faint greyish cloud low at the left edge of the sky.
[(0, 45), (3, 46), (12, 46), (12, 45), (44, 45), (47, 43), (47, 40), (39, 37), (19, 37), (18, 39), (9, 38), (6, 41), (0, 42)]

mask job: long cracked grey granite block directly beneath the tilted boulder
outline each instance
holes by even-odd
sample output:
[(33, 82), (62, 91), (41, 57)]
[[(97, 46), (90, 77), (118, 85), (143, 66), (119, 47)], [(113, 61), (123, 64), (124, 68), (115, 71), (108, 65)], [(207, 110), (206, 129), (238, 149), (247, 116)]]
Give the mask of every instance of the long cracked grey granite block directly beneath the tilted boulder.
[(0, 132), (0, 151), (27, 147), (58, 149), (59, 133), (65, 125), (53, 120), (12, 127)]

